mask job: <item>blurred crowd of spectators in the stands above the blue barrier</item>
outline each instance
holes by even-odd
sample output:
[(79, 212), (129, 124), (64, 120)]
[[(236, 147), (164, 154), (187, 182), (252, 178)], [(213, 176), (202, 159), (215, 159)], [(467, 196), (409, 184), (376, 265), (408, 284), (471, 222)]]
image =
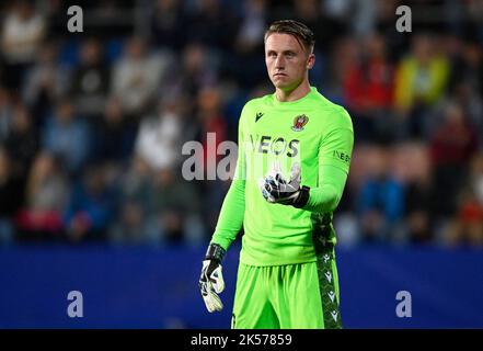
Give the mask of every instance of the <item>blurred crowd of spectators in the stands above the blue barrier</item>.
[(237, 141), (290, 18), (355, 127), (340, 244), (483, 246), (483, 1), (404, 1), (411, 33), (401, 3), (92, 0), (81, 33), (68, 1), (0, 4), (0, 242), (205, 244), (230, 182), (184, 180), (182, 146)]

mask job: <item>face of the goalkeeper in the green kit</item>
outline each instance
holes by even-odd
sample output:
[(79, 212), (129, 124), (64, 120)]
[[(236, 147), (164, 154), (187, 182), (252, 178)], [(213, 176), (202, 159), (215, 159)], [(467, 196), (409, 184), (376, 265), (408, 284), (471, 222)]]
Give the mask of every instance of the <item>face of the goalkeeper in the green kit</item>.
[(292, 35), (273, 33), (265, 41), (265, 64), (277, 89), (296, 89), (313, 63), (314, 55), (307, 53)]

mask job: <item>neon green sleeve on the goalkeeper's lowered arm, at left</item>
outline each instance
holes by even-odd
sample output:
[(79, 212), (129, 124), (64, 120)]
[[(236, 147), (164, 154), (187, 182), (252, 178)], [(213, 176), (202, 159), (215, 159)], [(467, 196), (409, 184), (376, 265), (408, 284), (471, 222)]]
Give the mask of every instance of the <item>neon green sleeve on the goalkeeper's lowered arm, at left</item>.
[(245, 213), (245, 152), (243, 143), (243, 124), (242, 118), (239, 123), (238, 136), (238, 160), (234, 171), (234, 177), (230, 189), (225, 196), (221, 206), (218, 223), (211, 238), (211, 244), (220, 245), (225, 250), (229, 248), (231, 242), (237, 238), (243, 225), (243, 217)]

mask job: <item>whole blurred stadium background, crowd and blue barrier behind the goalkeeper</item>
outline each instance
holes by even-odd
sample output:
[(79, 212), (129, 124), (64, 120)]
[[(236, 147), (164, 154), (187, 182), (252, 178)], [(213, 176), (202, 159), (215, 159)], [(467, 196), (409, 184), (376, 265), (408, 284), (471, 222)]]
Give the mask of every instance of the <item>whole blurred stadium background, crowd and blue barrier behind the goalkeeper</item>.
[(483, 328), (481, 0), (3, 1), (1, 328), (229, 328), (239, 241), (223, 313), (197, 287), (229, 181), (185, 181), (181, 148), (237, 141), (283, 18), (314, 31), (310, 80), (355, 126), (334, 216), (345, 326)]

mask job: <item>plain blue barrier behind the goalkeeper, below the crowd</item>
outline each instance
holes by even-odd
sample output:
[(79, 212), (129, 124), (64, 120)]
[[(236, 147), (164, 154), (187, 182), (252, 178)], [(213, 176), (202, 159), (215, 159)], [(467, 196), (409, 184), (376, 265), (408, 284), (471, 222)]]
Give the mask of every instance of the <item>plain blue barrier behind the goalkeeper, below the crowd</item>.
[[(345, 328), (483, 328), (483, 251), (337, 249)], [(204, 248), (13, 246), (0, 249), (0, 328), (229, 328), (239, 247), (223, 273), (226, 308), (197, 287)], [(83, 317), (70, 318), (70, 291)], [(396, 316), (399, 291), (412, 317)]]

